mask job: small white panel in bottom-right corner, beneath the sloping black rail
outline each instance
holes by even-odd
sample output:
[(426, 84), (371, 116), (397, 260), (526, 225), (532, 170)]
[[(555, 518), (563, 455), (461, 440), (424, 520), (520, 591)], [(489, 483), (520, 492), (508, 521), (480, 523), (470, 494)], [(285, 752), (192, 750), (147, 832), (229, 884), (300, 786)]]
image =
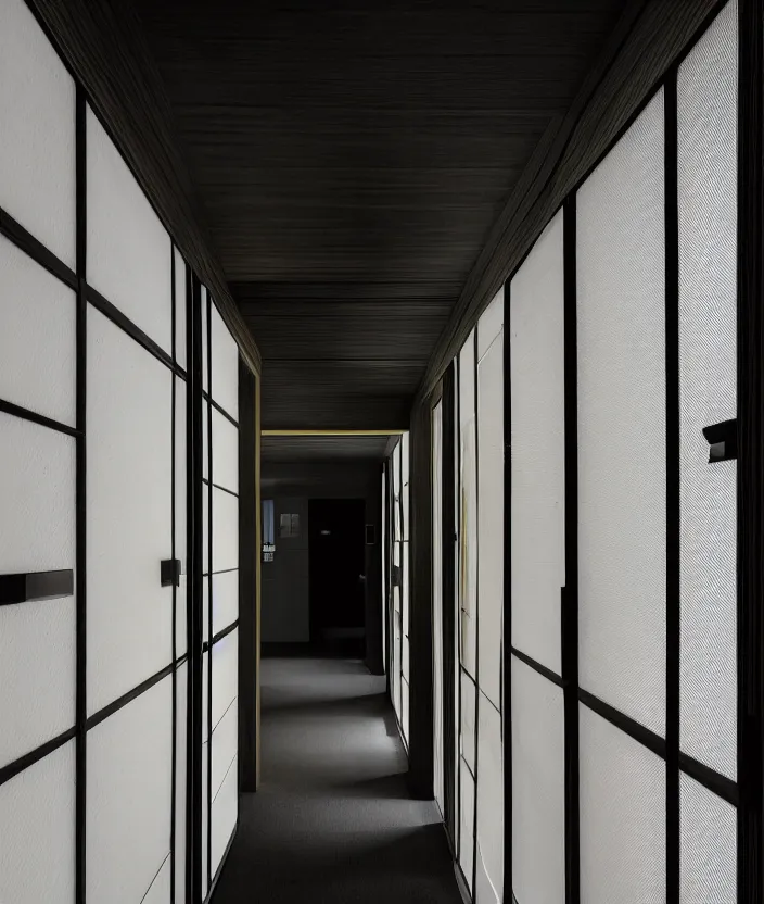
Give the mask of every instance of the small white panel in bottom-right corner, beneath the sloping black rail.
[(735, 904), (737, 809), (689, 776), (680, 776), (682, 904)]

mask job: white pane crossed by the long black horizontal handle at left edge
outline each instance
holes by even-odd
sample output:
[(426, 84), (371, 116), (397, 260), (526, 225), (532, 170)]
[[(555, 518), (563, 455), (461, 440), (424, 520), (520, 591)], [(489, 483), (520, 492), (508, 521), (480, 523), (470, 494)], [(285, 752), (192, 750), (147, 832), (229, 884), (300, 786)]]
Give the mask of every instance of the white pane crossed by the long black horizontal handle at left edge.
[[(0, 574), (74, 568), (74, 439), (0, 414)], [(0, 766), (74, 724), (74, 598), (0, 606)]]

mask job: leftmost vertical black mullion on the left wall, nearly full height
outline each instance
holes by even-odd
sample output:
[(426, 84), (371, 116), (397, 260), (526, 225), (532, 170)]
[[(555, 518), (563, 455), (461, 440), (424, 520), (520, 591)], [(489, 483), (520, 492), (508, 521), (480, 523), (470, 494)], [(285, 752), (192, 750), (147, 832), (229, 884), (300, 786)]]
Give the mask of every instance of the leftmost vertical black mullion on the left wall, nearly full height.
[(76, 703), (77, 744), (75, 754), (75, 901), (86, 897), (86, 786), (87, 786), (87, 104), (85, 92), (77, 86), (75, 95), (75, 167), (76, 167)]

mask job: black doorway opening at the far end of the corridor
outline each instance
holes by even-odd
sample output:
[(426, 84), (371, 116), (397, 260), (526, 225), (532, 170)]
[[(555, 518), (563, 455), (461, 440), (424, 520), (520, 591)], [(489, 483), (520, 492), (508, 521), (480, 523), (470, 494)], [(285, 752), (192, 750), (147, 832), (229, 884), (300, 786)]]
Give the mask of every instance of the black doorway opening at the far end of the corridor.
[(327, 653), (366, 654), (366, 503), (308, 501), (310, 641)]

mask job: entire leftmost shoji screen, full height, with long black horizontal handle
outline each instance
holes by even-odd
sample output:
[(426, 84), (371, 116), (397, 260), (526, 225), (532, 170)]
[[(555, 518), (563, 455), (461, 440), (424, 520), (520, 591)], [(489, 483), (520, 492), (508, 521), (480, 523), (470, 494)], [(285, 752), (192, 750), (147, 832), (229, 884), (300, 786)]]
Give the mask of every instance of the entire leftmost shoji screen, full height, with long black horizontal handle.
[(0, 4), (0, 901), (71, 904), (76, 88), (23, 0)]

